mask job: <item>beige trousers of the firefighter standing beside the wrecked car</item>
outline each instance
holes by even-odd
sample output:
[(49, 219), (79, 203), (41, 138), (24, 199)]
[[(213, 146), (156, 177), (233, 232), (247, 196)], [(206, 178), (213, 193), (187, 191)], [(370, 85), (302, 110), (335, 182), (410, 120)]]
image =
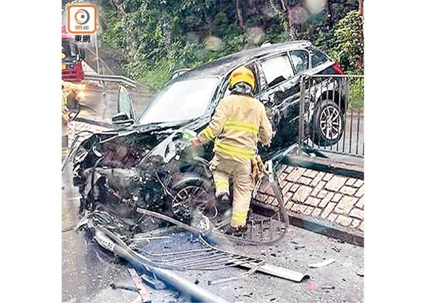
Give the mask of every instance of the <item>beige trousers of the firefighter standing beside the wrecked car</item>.
[(224, 193), (229, 194), (229, 178), (232, 178), (233, 208), (230, 226), (245, 226), (251, 196), (255, 187), (251, 160), (248, 160), (248, 162), (237, 162), (214, 155), (209, 168), (214, 177), (216, 196)]

